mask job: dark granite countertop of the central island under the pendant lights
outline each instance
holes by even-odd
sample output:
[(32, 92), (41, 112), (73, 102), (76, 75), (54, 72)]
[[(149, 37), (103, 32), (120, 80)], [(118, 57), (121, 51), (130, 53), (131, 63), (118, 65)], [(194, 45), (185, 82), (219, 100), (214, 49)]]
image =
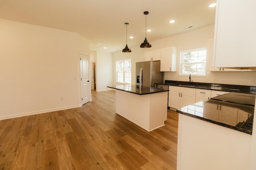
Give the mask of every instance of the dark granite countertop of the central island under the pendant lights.
[(147, 86), (138, 86), (138, 85), (132, 85), (132, 84), (107, 86), (107, 87), (114, 88), (116, 90), (122, 90), (122, 91), (133, 93), (133, 94), (138, 94), (138, 95), (169, 91), (168, 89), (160, 89), (160, 88), (147, 87)]

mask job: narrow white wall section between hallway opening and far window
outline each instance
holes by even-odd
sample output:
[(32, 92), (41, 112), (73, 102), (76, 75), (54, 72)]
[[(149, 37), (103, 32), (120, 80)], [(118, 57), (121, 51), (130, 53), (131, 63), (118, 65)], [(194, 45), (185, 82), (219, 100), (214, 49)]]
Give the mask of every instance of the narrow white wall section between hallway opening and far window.
[(112, 86), (112, 53), (96, 52), (96, 91), (111, 90), (107, 86)]

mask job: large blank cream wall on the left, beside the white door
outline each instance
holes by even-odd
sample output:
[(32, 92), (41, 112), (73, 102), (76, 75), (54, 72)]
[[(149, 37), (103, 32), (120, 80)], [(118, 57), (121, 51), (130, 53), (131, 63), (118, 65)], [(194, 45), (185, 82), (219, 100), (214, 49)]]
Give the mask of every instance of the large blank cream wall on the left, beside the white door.
[(81, 104), (79, 54), (89, 54), (88, 39), (2, 19), (0, 37), (0, 119)]

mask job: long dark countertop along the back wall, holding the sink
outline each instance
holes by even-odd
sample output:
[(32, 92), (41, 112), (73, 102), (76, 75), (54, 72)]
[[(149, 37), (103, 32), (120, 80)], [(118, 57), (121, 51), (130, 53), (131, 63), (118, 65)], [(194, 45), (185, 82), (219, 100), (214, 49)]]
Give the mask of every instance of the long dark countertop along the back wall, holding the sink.
[(242, 86), (242, 85), (232, 85), (232, 84), (211, 84), (211, 83), (200, 83), (200, 82), (183, 82), (183, 81), (172, 81), (165, 80), (164, 83), (157, 83), (168, 86), (180, 86), (188, 88), (200, 88), (206, 90), (219, 90), (225, 92), (238, 92), (247, 94), (256, 94), (256, 86)]

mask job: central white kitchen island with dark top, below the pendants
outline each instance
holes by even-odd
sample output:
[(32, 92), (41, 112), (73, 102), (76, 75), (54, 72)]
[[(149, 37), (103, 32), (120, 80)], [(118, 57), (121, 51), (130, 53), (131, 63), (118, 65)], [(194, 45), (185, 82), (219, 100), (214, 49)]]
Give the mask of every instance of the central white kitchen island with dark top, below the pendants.
[(107, 86), (116, 90), (116, 113), (152, 131), (167, 119), (168, 89), (137, 85)]

